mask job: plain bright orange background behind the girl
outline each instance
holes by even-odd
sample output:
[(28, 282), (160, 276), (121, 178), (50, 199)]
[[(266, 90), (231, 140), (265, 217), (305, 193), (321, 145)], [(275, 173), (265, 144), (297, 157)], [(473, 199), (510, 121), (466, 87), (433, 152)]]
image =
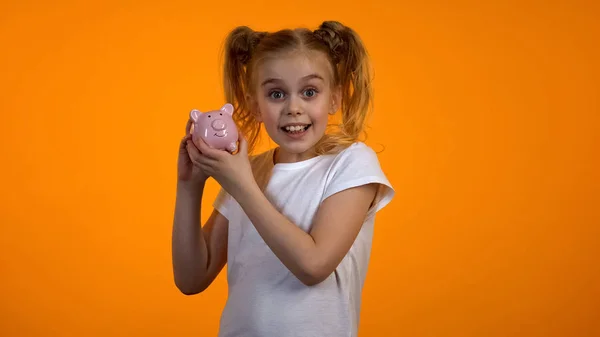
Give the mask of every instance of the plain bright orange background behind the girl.
[(225, 273), (193, 297), (171, 274), (187, 113), (223, 103), (234, 26), (334, 19), (398, 192), (360, 336), (599, 336), (598, 6), (450, 3), (4, 1), (0, 335), (216, 336)]

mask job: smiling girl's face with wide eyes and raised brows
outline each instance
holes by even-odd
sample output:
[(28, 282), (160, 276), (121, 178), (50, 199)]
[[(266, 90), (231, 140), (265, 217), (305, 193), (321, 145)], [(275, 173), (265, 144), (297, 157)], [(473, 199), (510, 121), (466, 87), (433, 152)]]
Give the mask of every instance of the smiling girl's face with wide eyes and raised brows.
[(253, 97), (257, 118), (280, 149), (278, 162), (313, 156), (325, 134), (329, 114), (337, 111), (332, 68), (320, 52), (290, 53), (264, 60), (256, 69)]

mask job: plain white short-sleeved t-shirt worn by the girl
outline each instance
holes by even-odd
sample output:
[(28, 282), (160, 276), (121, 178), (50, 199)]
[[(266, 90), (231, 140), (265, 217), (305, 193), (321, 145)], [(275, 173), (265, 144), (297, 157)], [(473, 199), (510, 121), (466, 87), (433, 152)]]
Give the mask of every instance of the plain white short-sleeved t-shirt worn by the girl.
[(325, 281), (306, 286), (271, 251), (239, 204), (221, 190), (214, 206), (229, 220), (229, 290), (219, 336), (355, 337), (374, 216), (391, 201), (394, 190), (377, 154), (362, 142), (335, 155), (296, 163), (273, 165), (273, 154), (274, 150), (269, 150), (251, 158), (255, 175), (270, 175), (266, 197), (306, 232), (319, 205), (335, 193), (379, 183), (377, 197), (356, 241), (335, 271)]

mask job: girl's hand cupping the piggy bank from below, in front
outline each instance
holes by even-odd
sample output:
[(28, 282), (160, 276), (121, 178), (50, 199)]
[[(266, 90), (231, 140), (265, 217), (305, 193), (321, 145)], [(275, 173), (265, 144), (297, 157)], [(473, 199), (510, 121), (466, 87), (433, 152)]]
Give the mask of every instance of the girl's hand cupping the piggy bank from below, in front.
[(239, 150), (236, 154), (213, 149), (201, 138), (199, 143), (198, 149), (202, 155), (197, 165), (203, 172), (213, 177), (232, 197), (236, 198), (251, 184), (256, 184), (248, 159), (248, 143), (241, 133)]

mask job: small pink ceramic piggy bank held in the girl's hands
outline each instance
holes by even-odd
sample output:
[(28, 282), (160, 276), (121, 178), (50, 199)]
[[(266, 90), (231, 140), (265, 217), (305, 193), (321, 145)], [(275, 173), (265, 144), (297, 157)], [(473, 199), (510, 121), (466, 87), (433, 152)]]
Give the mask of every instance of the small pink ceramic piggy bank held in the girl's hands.
[(237, 150), (238, 129), (233, 122), (233, 105), (227, 103), (220, 110), (190, 112), (193, 120), (190, 133), (192, 141), (198, 144), (200, 139), (213, 149), (233, 153)]

